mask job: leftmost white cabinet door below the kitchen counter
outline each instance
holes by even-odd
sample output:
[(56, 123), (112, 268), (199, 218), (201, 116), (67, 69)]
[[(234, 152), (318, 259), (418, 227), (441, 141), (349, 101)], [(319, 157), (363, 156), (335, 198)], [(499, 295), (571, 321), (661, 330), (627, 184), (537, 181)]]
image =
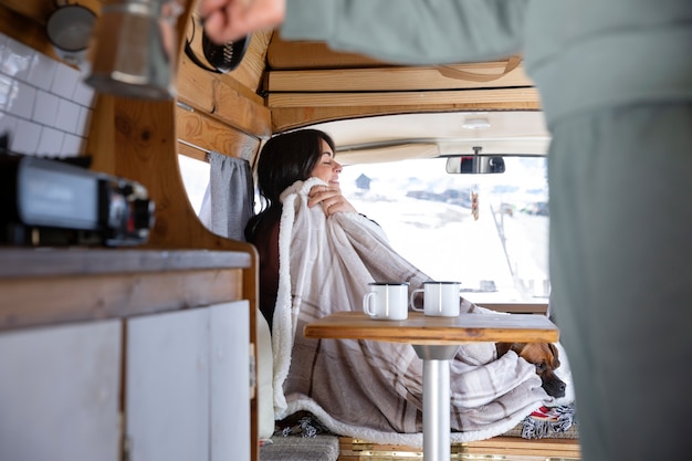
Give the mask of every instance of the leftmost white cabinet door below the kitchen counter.
[(0, 460), (118, 460), (119, 321), (0, 335)]

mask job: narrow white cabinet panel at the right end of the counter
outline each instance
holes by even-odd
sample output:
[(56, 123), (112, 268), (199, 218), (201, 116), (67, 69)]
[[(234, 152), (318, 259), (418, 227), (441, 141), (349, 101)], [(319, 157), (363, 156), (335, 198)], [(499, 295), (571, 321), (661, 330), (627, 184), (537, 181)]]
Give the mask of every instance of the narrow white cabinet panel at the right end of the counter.
[(250, 460), (250, 304), (210, 311), (211, 460)]

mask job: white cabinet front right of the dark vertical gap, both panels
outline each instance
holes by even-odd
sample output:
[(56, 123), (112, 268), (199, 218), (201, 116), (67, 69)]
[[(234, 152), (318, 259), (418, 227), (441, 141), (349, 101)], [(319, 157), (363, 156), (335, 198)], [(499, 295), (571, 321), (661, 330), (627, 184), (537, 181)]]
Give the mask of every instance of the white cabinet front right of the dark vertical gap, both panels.
[(249, 304), (127, 321), (132, 461), (250, 459)]

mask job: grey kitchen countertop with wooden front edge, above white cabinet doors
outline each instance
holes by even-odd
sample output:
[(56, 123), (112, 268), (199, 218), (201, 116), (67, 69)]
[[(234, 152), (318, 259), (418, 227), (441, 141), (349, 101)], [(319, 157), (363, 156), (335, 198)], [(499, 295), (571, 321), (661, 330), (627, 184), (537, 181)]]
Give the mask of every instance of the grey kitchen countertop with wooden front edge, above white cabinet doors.
[(242, 298), (250, 253), (0, 249), (0, 332)]

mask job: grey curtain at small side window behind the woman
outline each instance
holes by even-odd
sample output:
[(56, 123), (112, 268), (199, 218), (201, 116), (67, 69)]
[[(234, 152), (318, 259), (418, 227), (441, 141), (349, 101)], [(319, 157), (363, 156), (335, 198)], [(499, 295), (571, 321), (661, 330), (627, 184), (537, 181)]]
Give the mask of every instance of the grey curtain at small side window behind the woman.
[(254, 213), (252, 169), (248, 160), (209, 153), (209, 186), (199, 218), (213, 233), (245, 241), (244, 229)]

